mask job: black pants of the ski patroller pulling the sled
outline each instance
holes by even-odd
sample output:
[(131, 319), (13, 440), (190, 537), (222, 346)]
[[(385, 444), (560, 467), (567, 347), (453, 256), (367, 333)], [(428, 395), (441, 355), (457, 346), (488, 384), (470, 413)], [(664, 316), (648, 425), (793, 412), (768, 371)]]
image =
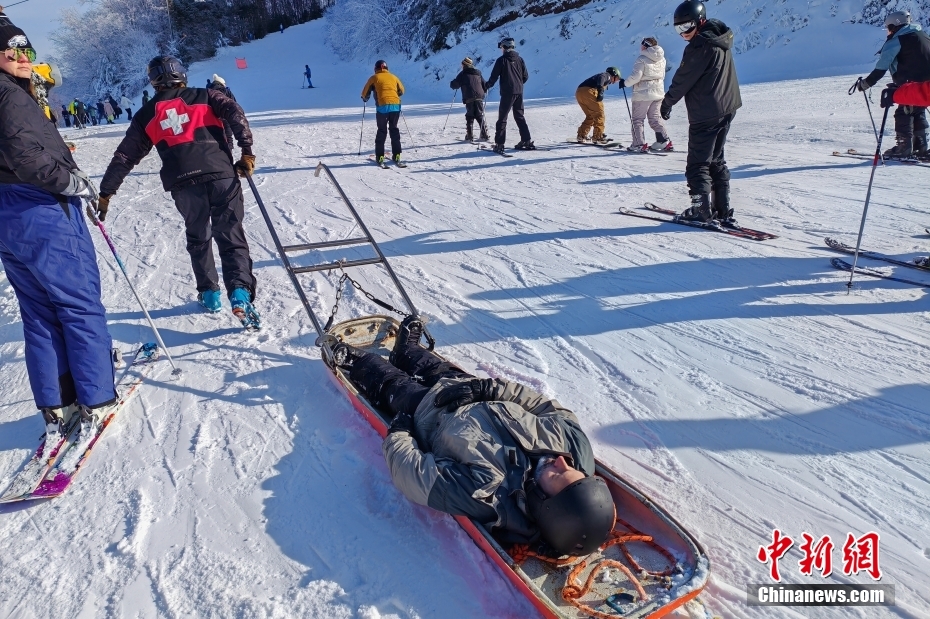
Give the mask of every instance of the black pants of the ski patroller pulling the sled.
[(191, 257), (197, 292), (219, 290), (213, 261), (213, 241), (220, 252), (226, 294), (245, 288), (255, 298), (252, 258), (242, 220), (245, 207), (238, 178), (221, 178), (171, 192), (187, 227), (187, 253)]

